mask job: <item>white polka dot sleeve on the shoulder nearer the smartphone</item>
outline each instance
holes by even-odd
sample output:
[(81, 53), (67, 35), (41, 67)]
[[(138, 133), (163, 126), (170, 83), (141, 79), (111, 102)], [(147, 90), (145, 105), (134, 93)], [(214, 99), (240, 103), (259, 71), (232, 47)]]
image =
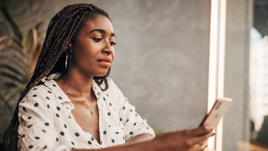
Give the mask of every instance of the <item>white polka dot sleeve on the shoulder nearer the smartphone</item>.
[(123, 92), (117, 87), (113, 80), (110, 79), (110, 81), (112, 83), (111, 85), (113, 85), (113, 89), (116, 91), (115, 93), (117, 93), (119, 118), (125, 126), (126, 141), (142, 133), (148, 133), (155, 137), (155, 132), (150, 125), (147, 124), (147, 120), (143, 119), (135, 111), (135, 106), (129, 103), (128, 98), (123, 95)]

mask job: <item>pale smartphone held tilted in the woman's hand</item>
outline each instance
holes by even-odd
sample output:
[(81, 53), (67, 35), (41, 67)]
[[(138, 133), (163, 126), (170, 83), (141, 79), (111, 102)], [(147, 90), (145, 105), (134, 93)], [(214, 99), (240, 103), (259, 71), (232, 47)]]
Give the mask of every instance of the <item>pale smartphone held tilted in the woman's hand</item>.
[(211, 127), (216, 127), (220, 122), (220, 119), (225, 115), (232, 104), (231, 98), (219, 98), (214, 102), (213, 107), (209, 113), (204, 117), (203, 121), (200, 123), (200, 126), (209, 125)]

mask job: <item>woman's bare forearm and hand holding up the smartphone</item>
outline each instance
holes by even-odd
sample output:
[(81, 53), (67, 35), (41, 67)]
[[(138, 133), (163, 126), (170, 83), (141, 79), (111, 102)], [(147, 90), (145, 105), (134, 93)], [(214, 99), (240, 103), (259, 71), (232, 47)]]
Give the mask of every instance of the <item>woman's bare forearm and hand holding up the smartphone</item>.
[[(206, 146), (200, 146), (201, 142), (213, 136), (212, 127), (198, 127), (195, 129), (186, 129), (182, 131), (172, 131), (157, 135), (153, 140), (129, 144), (125, 146), (114, 146), (103, 148), (104, 151), (202, 151)], [(138, 136), (138, 135), (137, 135)], [(134, 138), (134, 137), (133, 137)], [(98, 151), (98, 150), (79, 150), (72, 151)]]

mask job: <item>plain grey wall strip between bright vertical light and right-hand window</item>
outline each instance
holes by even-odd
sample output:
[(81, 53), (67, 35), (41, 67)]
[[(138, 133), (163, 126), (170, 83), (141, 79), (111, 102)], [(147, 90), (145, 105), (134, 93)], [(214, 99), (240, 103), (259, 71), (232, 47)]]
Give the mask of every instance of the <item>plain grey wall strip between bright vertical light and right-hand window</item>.
[(249, 31), (253, 0), (227, 0), (224, 96), (233, 103), (223, 119), (223, 151), (249, 141)]

